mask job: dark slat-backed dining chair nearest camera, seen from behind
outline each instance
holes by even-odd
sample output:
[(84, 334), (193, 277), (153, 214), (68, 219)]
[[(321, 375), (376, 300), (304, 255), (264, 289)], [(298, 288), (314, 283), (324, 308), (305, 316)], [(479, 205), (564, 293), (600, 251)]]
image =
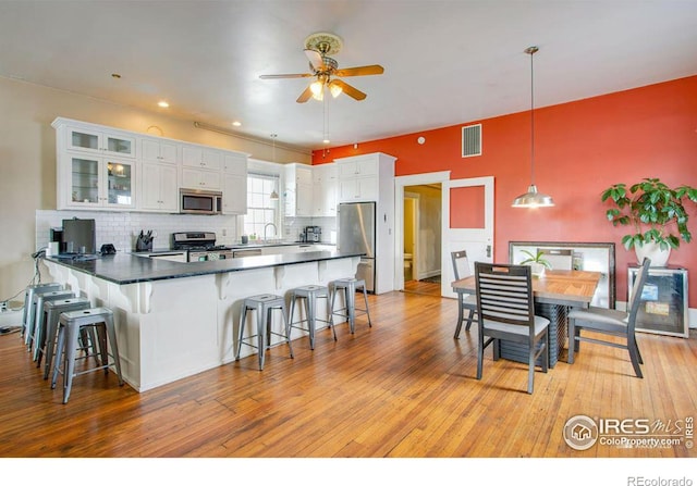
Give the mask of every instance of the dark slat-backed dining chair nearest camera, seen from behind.
[(501, 354), (501, 341), (528, 346), (527, 392), (533, 392), (535, 366), (541, 358), (549, 367), (549, 320), (535, 315), (533, 277), (528, 265), (475, 262), (479, 345), (477, 379), (481, 379), (484, 350), (493, 344), (493, 360)]

